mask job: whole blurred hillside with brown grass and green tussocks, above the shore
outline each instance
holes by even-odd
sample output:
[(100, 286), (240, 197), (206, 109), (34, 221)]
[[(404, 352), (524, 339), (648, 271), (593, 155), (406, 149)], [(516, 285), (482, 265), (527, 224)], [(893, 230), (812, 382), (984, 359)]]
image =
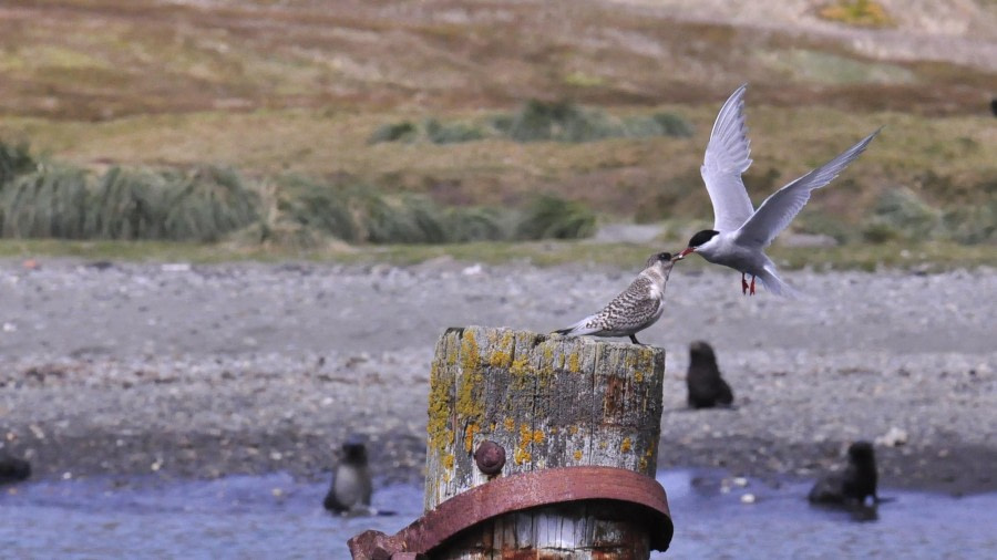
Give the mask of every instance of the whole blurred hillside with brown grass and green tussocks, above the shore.
[(997, 2), (744, 6), (6, 1), (2, 237), (681, 240), (711, 219), (698, 166), (748, 82), (756, 203), (885, 125), (795, 231), (990, 262)]

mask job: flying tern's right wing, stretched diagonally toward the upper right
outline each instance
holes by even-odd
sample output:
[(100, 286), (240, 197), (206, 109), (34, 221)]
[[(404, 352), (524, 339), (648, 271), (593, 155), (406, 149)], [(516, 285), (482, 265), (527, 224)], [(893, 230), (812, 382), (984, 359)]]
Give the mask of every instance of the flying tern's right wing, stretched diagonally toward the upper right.
[(769, 198), (765, 198), (765, 201), (758, 207), (758, 211), (734, 234), (738, 242), (748, 247), (768, 247), (772, 239), (789, 226), (790, 221), (803, 208), (803, 205), (810, 200), (810, 193), (837, 177), (839, 173), (844, 170), (849, 164), (865, 151), (865, 147), (876, 137), (876, 134), (880, 134), (880, 131), (862, 138), (862, 141), (844, 151), (834, 159), (793, 180), (773, 193)]

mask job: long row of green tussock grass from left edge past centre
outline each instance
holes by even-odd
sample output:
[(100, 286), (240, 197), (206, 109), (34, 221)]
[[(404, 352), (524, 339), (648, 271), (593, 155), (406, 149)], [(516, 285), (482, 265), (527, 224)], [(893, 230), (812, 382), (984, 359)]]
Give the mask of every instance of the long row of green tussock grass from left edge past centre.
[(234, 234), (246, 242), (312, 247), (325, 238), (378, 245), (575, 239), (595, 229), (592, 210), (551, 195), (524, 210), (446, 208), (351, 177), (321, 183), (288, 175), (247, 185), (222, 167), (112, 167), (92, 177), (0, 144), (0, 154), (9, 153), (17, 157), (4, 168), (13, 170), (0, 184), (0, 235), (8, 238), (212, 242)]

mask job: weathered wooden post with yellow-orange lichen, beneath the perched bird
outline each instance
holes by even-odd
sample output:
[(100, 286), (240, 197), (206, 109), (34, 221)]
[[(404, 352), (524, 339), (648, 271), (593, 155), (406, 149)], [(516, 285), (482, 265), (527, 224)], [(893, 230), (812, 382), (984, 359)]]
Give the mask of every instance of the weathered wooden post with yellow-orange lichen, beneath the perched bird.
[[(657, 466), (665, 351), (510, 329), (450, 329), (430, 380), (425, 509), (486, 483), (484, 440), (506, 460), (493, 476), (567, 466)], [(433, 558), (648, 558), (647, 530), (619, 502), (561, 504), (465, 531)], [(515, 556), (514, 558), (518, 558)]]

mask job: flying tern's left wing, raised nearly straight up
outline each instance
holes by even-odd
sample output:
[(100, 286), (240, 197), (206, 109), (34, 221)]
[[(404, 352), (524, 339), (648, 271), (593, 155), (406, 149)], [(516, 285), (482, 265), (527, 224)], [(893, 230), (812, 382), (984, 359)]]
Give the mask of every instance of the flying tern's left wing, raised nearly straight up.
[(720, 108), (699, 173), (713, 203), (713, 229), (734, 231), (751, 217), (754, 207), (748, 198), (741, 174), (748, 170), (751, 143), (744, 125), (744, 84)]

